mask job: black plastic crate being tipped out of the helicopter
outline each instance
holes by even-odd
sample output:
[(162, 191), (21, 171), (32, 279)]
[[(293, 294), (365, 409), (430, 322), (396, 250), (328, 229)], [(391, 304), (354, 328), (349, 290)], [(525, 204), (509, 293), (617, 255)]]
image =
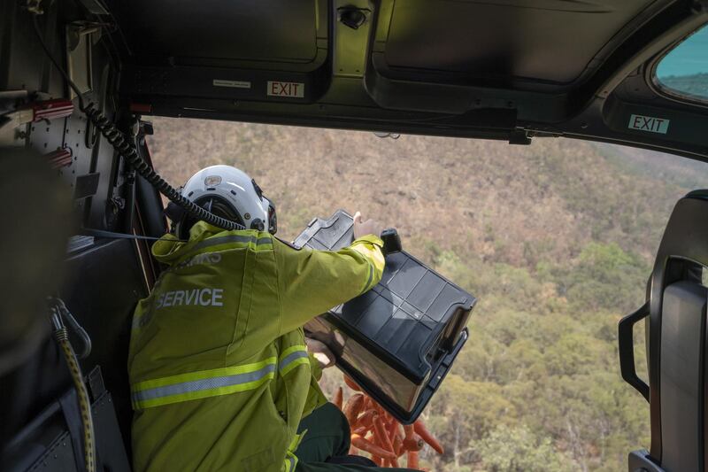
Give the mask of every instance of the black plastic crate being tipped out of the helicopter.
[[(353, 219), (339, 210), (314, 219), (296, 247), (338, 250), (353, 241)], [(372, 290), (305, 325), (327, 344), (337, 367), (404, 424), (414, 422), (469, 337), (476, 298), (406, 251), (386, 256)]]

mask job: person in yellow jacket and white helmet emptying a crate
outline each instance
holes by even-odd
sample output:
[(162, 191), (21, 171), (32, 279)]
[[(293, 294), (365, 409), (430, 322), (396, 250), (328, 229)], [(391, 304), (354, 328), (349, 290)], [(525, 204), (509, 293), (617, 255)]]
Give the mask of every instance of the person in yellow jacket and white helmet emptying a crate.
[(381, 280), (381, 228), (357, 213), (349, 247), (297, 250), (235, 167), (207, 167), (181, 192), (244, 229), (173, 211), (153, 245), (167, 268), (135, 309), (128, 356), (135, 470), (372, 470), (346, 457), (349, 425), (319, 390), (302, 327)]

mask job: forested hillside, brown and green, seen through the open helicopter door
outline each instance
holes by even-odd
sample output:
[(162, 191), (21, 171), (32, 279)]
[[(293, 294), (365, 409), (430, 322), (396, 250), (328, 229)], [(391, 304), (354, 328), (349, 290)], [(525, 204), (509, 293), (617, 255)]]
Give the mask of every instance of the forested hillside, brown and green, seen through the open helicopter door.
[[(620, 379), (616, 325), (643, 303), (666, 219), (704, 164), (609, 145), (507, 143), (154, 120), (158, 171), (229, 164), (256, 178), (292, 239), (338, 208), (399, 229), (408, 251), (480, 298), (472, 337), (427, 408), (450, 471), (620, 470), (649, 445)], [(643, 337), (636, 333), (638, 353)], [(340, 382), (335, 369), (323, 384)]]

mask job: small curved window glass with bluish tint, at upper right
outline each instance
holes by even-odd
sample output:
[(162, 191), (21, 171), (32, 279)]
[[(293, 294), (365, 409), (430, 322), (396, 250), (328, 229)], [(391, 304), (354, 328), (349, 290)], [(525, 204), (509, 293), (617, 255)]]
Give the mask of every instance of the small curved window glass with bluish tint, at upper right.
[(667, 93), (708, 102), (708, 26), (666, 54), (656, 74), (658, 85)]

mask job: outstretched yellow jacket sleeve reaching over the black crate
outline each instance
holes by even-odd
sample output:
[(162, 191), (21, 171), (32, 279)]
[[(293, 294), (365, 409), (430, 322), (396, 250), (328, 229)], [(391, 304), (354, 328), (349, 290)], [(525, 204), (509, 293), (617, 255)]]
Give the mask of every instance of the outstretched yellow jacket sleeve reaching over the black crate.
[(340, 251), (296, 250), (273, 240), (281, 299), (281, 333), (304, 325), (381, 281), (381, 238), (361, 236)]

